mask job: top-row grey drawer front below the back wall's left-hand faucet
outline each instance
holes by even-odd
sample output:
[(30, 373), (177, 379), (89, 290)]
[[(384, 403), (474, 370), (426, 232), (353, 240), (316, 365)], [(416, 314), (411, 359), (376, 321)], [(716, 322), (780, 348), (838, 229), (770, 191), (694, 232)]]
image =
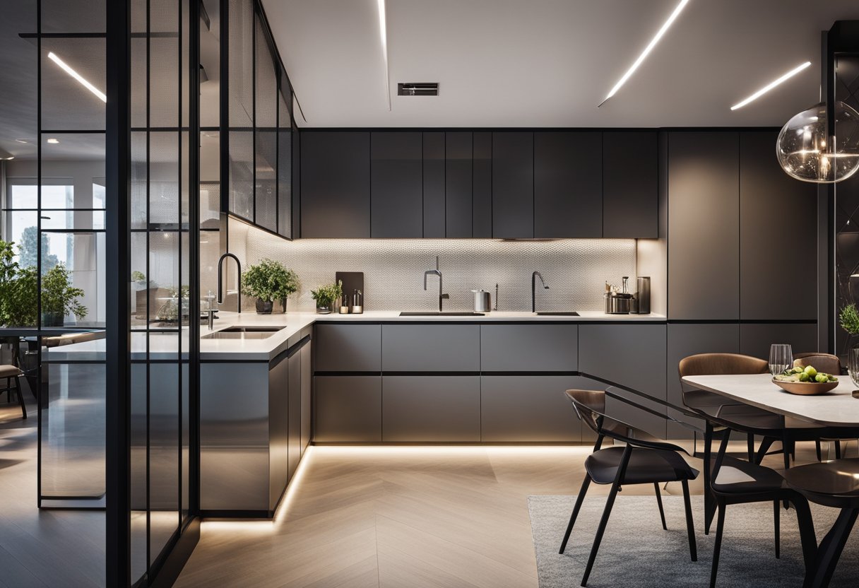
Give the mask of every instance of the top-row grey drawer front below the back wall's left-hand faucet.
[(480, 371), (480, 326), (382, 326), (382, 371)]

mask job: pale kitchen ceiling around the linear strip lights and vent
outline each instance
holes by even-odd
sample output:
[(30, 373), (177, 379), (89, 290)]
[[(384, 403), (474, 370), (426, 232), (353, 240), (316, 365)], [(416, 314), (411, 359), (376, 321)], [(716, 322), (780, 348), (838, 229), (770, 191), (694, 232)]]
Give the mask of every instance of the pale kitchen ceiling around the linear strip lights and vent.
[[(819, 101), (820, 31), (856, 0), (691, 0), (597, 105), (679, 0), (263, 0), (300, 126), (782, 126)], [(812, 67), (730, 107), (804, 61)], [(398, 82), (438, 82), (435, 97)]]

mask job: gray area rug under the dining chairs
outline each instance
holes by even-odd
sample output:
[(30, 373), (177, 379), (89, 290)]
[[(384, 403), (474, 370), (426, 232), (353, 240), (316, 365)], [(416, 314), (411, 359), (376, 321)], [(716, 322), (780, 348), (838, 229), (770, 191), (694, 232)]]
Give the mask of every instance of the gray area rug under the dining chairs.
[[(689, 558), (683, 498), (663, 494), (668, 530), (662, 530), (655, 496), (618, 495), (608, 520), (594, 569), (591, 588), (656, 588), (709, 586), (716, 522), (704, 535), (704, 499), (692, 497), (698, 561)], [(570, 588), (582, 582), (605, 496), (588, 496), (576, 519), (566, 552), (557, 553), (570, 520), (576, 496), (529, 496), (528, 512), (537, 554), (540, 588)], [(818, 539), (825, 535), (838, 512), (811, 505)], [(782, 556), (774, 551), (771, 503), (729, 505), (719, 560), (718, 588), (783, 588), (801, 586), (799, 530), (793, 510), (781, 510)], [(857, 524), (859, 528), (859, 524)], [(832, 577), (832, 588), (859, 586), (859, 530), (847, 542)]]

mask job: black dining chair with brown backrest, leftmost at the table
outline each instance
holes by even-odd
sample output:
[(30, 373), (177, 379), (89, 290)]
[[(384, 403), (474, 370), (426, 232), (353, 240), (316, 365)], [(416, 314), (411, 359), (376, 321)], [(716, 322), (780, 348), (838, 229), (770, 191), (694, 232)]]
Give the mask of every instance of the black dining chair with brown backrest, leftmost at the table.
[[(576, 409), (576, 415), (597, 435), (594, 444), (594, 453), (585, 459), (585, 479), (582, 488), (576, 497), (576, 505), (570, 515), (570, 523), (564, 533), (559, 553), (563, 554), (570, 540), (573, 525), (582, 509), (582, 502), (588, 492), (591, 481), (596, 484), (611, 484), (612, 488), (603, 509), (600, 525), (594, 537), (594, 545), (588, 557), (588, 565), (582, 577), (582, 586), (588, 584), (588, 577), (594, 567), (597, 551), (600, 548), (602, 536), (606, 531), (609, 515), (612, 512), (614, 500), (618, 495), (620, 487), (631, 484), (653, 484), (656, 488), (656, 496), (659, 504), (662, 527), (666, 528), (665, 514), (662, 510), (662, 501), (659, 492), (659, 484), (669, 481), (679, 481), (683, 487), (683, 499), (685, 503), (686, 530), (689, 535), (689, 553), (692, 561), (698, 560), (698, 548), (695, 543), (695, 528), (692, 523), (691, 502), (689, 499), (689, 481), (698, 477), (698, 470), (691, 466), (679, 455), (685, 453), (681, 447), (667, 443), (653, 437), (641, 429), (637, 429), (621, 420), (612, 418), (606, 414), (606, 395), (616, 398), (618, 401), (626, 399), (612, 395), (608, 391), (598, 390), (567, 390), (566, 395)], [(635, 403), (631, 403), (634, 406)], [(646, 410), (646, 408), (645, 408)], [(614, 439), (624, 443), (623, 447), (612, 446), (602, 448), (605, 438)]]

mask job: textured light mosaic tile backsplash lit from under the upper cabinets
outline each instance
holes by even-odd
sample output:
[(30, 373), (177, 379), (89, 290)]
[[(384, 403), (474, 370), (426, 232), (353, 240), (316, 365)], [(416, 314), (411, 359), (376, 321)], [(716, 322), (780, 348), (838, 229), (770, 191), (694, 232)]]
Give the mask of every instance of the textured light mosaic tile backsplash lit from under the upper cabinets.
[[(531, 309), (531, 273), (538, 271), (549, 290), (538, 287), (537, 309), (602, 310), (606, 281), (620, 285), (630, 276), (634, 288), (633, 239), (494, 241), (451, 239), (302, 239), (283, 241), (246, 224), (231, 223), (230, 251), (243, 265), (268, 257), (295, 270), (301, 290), (289, 298), (290, 310), (313, 310), (310, 291), (334, 281), (334, 273), (364, 273), (365, 310), (436, 310), (438, 278), (423, 272), (440, 269), (445, 310), (471, 310), (472, 289), (490, 291), (499, 310)], [(498, 284), (498, 300), (495, 285)], [(253, 308), (253, 300), (244, 301)]]

